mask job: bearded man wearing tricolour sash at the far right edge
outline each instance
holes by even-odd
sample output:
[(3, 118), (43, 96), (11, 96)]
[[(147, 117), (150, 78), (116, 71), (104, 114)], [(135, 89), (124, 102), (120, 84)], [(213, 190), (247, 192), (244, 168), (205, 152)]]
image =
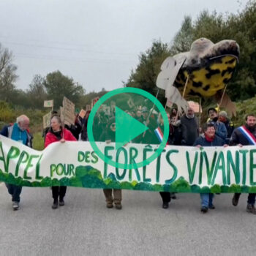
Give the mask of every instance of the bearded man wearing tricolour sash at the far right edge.
[[(256, 145), (256, 116), (255, 114), (248, 114), (245, 118), (245, 124), (234, 129), (230, 138), (230, 146), (246, 146)], [(232, 199), (233, 206), (238, 205), (238, 200), (241, 193), (235, 193)], [(249, 193), (247, 199), (246, 211), (251, 214), (256, 214), (255, 208), (255, 193)]]

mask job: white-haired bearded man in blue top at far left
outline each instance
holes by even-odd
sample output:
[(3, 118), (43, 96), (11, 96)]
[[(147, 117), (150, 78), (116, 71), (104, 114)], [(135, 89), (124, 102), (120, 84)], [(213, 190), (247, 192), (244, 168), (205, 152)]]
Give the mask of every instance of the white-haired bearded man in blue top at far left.
[[(5, 126), (0, 135), (16, 140), (26, 146), (32, 147), (32, 136), (29, 133), (29, 118), (25, 115), (18, 116), (15, 124)], [(20, 194), (22, 187), (13, 184), (5, 184), (12, 195), (12, 208), (14, 211), (20, 208)]]

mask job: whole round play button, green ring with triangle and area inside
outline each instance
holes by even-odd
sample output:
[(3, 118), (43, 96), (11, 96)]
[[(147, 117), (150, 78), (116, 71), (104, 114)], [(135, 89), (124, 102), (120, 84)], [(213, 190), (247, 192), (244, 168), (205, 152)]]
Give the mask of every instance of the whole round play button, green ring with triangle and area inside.
[(87, 132), (100, 159), (131, 170), (159, 157), (167, 143), (169, 121), (156, 97), (126, 87), (110, 91), (97, 101), (89, 115)]

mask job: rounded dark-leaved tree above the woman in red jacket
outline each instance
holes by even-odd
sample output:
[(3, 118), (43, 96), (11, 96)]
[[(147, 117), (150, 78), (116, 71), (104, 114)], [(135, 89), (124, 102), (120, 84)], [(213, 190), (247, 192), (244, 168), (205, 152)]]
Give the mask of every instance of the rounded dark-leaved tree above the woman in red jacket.
[(85, 93), (83, 86), (75, 83), (72, 78), (62, 75), (59, 70), (46, 75), (43, 84), (48, 94), (48, 99), (54, 99), (55, 108), (59, 108), (62, 105), (64, 96), (72, 102), (80, 102), (80, 97)]

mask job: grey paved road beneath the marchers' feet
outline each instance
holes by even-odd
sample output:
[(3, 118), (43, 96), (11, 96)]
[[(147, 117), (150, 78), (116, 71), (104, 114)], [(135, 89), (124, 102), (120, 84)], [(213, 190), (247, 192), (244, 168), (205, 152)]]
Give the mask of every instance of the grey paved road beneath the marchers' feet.
[(200, 214), (199, 196), (179, 194), (161, 208), (157, 192), (123, 192), (123, 210), (105, 208), (100, 189), (68, 188), (51, 209), (50, 189), (23, 188), (20, 211), (0, 184), (0, 255), (255, 255), (256, 216), (246, 195)]

